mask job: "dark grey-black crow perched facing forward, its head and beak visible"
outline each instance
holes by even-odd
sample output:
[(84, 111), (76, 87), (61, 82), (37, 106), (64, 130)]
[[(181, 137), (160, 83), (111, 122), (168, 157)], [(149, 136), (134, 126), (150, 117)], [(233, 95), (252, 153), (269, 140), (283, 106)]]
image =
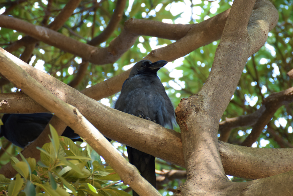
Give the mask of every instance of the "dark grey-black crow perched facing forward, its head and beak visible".
[[(173, 129), (176, 122), (174, 108), (157, 76), (157, 71), (167, 63), (137, 62), (122, 85), (115, 109)], [(155, 157), (129, 146), (127, 154), (129, 162), (137, 167), (142, 177), (156, 187)], [(137, 195), (133, 191), (133, 196)]]

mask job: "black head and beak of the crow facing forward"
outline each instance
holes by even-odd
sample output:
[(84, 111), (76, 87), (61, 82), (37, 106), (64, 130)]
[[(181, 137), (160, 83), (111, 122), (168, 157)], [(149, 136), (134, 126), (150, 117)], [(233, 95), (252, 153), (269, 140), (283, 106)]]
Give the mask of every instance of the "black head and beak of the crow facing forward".
[(164, 65), (166, 65), (168, 62), (167, 61), (157, 61), (152, 63), (149, 60), (142, 60), (142, 61), (138, 61), (133, 67), (132, 70), (129, 74), (129, 77), (133, 77), (137, 74), (141, 74), (141, 73), (154, 73), (156, 74), (157, 71), (159, 71), (159, 69), (161, 67), (163, 67)]

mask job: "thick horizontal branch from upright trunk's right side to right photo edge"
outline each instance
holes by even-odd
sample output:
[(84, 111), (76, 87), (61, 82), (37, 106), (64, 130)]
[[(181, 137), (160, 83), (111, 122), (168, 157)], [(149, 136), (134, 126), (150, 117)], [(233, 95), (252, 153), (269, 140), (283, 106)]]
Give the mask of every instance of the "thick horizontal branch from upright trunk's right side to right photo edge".
[[(293, 149), (250, 148), (222, 141), (219, 141), (218, 145), (227, 175), (259, 179), (293, 170), (291, 164)], [(241, 163), (241, 166), (238, 163)], [(245, 172), (246, 174), (244, 174)], [(241, 176), (238, 174), (241, 174)]]

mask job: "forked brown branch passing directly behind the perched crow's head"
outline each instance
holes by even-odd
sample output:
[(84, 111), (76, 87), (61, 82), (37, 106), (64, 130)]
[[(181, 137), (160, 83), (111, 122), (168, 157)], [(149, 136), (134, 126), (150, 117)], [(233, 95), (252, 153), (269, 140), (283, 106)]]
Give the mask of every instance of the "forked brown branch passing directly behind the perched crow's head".
[[(169, 46), (153, 50), (144, 58), (149, 59), (152, 62), (162, 59), (166, 61), (173, 61), (176, 58), (185, 56), (186, 54), (201, 46), (207, 45), (212, 41), (216, 41), (217, 39), (219, 39), (222, 35), (221, 32), (228, 14), (229, 9), (222, 12), (221, 14), (218, 14), (217, 17), (214, 16), (199, 24), (194, 25), (174, 25), (161, 23), (158, 21), (130, 19), (125, 22), (124, 29), (125, 31), (131, 31), (135, 34), (157, 36), (173, 40), (178, 40), (182, 38), (179, 41), (170, 44)], [(210, 27), (212, 29), (208, 29), (207, 27)], [(150, 28), (151, 31), (149, 31)], [(197, 29), (201, 31), (197, 32)], [(206, 34), (210, 35), (202, 37), (202, 35)], [(184, 37), (185, 35), (186, 37)], [(173, 48), (176, 48), (176, 50), (174, 50)], [(113, 78), (109, 78), (108, 80), (105, 80), (99, 84), (86, 88), (81, 91), (81, 93), (84, 93), (88, 97), (95, 100), (100, 100), (102, 98), (118, 93), (119, 91), (121, 91), (123, 82), (128, 78), (130, 70), (131, 69), (121, 73), (119, 76), (114, 76)]]

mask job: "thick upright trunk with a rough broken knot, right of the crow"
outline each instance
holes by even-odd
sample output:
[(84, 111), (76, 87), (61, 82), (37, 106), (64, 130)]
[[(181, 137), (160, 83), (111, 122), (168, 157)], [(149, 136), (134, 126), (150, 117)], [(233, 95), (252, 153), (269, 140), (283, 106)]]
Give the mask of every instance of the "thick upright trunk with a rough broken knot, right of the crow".
[[(188, 176), (180, 187), (182, 195), (206, 191), (212, 180), (217, 181), (217, 186), (228, 182), (216, 134), (219, 119), (236, 89), (248, 58), (246, 27), (253, 5), (254, 1), (233, 2), (207, 81), (198, 94), (182, 99), (176, 108)], [(191, 191), (194, 185), (198, 189)], [(210, 190), (214, 194), (217, 191), (216, 186)]]

